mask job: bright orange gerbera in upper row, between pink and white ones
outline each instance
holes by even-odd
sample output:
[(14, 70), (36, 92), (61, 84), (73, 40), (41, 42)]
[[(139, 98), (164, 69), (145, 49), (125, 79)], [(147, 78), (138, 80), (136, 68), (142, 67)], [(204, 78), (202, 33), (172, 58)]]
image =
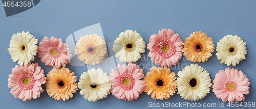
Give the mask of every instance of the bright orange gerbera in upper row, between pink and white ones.
[(190, 37), (186, 38), (183, 43), (184, 56), (191, 62), (205, 62), (210, 58), (211, 52), (214, 52), (214, 44), (212, 38), (207, 37), (207, 34), (199, 32), (193, 32)]

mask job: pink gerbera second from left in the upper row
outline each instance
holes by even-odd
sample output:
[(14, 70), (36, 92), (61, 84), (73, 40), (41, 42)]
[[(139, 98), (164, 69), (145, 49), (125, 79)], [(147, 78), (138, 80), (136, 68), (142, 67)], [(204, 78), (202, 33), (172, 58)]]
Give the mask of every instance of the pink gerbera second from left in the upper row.
[(47, 66), (53, 66), (54, 68), (66, 67), (69, 63), (71, 55), (71, 50), (69, 50), (69, 45), (62, 42), (62, 39), (51, 37), (44, 37), (38, 46), (38, 57)]

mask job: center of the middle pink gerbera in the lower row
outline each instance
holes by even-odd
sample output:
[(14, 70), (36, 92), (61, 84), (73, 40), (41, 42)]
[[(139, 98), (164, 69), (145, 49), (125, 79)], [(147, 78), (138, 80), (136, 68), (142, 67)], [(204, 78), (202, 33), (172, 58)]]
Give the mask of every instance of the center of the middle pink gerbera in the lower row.
[(135, 85), (135, 79), (132, 75), (123, 73), (118, 77), (118, 85), (124, 90), (132, 90)]

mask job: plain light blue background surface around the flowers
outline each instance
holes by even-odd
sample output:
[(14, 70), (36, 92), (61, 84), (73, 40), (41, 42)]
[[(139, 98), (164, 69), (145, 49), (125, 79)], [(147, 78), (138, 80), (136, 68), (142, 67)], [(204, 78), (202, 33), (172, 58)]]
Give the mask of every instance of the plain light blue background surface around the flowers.
[[(49, 97), (46, 91), (41, 93), (41, 97), (23, 102), (14, 98), (8, 88), (8, 75), (12, 73), (12, 68), (17, 65), (13, 62), (7, 48), (13, 34), (29, 31), (31, 35), (38, 39), (38, 43), (46, 37), (62, 38), (65, 42), (68, 36), (74, 32), (86, 28), (87, 26), (100, 23), (105, 41), (111, 44), (121, 32), (127, 29), (136, 30), (143, 37), (146, 43), (150, 36), (158, 34), (161, 29), (172, 29), (178, 33), (183, 41), (191, 33), (202, 31), (208, 37), (212, 37), (215, 47), (219, 40), (229, 34), (240, 36), (247, 44), (246, 60), (231, 68), (242, 70), (247, 75), (251, 83), (250, 94), (245, 95), (246, 102), (256, 102), (255, 98), (255, 34), (256, 34), (256, 1), (40, 1), (35, 7), (6, 17), (3, 6), (0, 6), (0, 33), (1, 33), (1, 74), (0, 76), (0, 103), (1, 108), (148, 108), (148, 102), (153, 103), (216, 103), (220, 108), (216, 95), (210, 93), (198, 101), (187, 101), (180, 95), (174, 94), (170, 99), (154, 100), (150, 95), (142, 93), (137, 100), (118, 100), (112, 94), (108, 98), (97, 102), (89, 102), (77, 91), (74, 97), (67, 101), (57, 101)], [(75, 33), (74, 33), (75, 35)], [(74, 40), (74, 39), (73, 39)], [(67, 41), (66, 41), (67, 42)], [(38, 44), (37, 44), (38, 45)], [(109, 51), (111, 45), (108, 45)], [(142, 53), (142, 58), (137, 62), (144, 68), (144, 74), (155, 64), (148, 58), (148, 49)], [(112, 50), (113, 51), (113, 50)], [(75, 51), (72, 50), (74, 53)], [(227, 68), (227, 65), (220, 64), (216, 57), (216, 49), (212, 57), (204, 63), (198, 63), (206, 68), (213, 80), (215, 74)], [(113, 56), (113, 53), (109, 53)], [(114, 59), (114, 58), (113, 58)], [(172, 66), (175, 74), (184, 68), (185, 65), (193, 64), (185, 60), (183, 56), (176, 66)], [(118, 58), (117, 60), (118, 61)], [(33, 63), (39, 63), (47, 74), (52, 67), (45, 66), (40, 61), (38, 55)], [(194, 63), (195, 64), (195, 63)], [(68, 68), (80, 79), (82, 72), (87, 71), (87, 67), (76, 67), (70, 64)], [(109, 72), (108, 72), (109, 73)], [(78, 82), (78, 81), (77, 81)], [(42, 85), (45, 90), (45, 85)], [(227, 107), (225, 102), (225, 108)], [(185, 106), (186, 107), (186, 106)], [(168, 107), (173, 108), (173, 107)], [(174, 107), (181, 108), (181, 107)], [(192, 107), (191, 107), (192, 108)], [(194, 107), (197, 108), (197, 107)], [(224, 107), (221, 107), (224, 108)], [(231, 107), (229, 107), (231, 108)], [(233, 107), (232, 107), (233, 108)]]

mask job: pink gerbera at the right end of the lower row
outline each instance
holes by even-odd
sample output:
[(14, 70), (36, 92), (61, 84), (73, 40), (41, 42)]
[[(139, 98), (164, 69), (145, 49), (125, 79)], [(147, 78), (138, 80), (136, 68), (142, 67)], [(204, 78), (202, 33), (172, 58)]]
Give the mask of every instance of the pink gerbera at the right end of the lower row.
[(238, 69), (228, 67), (225, 71), (219, 71), (212, 83), (214, 83), (212, 92), (223, 102), (242, 101), (245, 99), (244, 94), (249, 94), (249, 79)]

